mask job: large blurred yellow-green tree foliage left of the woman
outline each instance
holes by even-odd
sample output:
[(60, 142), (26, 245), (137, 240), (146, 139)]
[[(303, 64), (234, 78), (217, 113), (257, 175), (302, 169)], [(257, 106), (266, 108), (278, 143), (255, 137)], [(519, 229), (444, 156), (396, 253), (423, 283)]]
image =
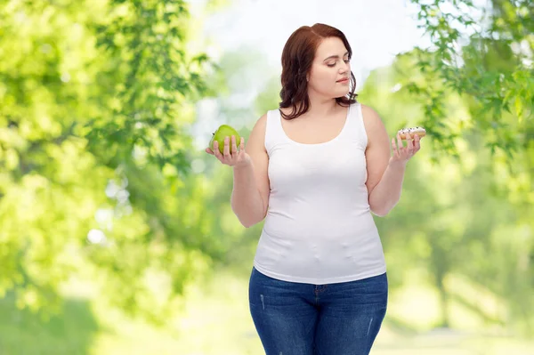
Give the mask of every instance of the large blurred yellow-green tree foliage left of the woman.
[(187, 129), (215, 64), (191, 21), (182, 0), (0, 5), (0, 296), (59, 310), (77, 275), (158, 320), (206, 270)]

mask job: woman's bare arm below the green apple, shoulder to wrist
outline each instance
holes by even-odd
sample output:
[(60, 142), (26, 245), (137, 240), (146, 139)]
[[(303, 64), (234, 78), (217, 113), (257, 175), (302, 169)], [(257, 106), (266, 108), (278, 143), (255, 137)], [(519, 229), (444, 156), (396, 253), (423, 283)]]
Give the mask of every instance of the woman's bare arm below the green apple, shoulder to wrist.
[(269, 157), (264, 146), (267, 115), (256, 122), (247, 141), (249, 163), (234, 165), (231, 209), (239, 222), (249, 228), (263, 221), (269, 206)]

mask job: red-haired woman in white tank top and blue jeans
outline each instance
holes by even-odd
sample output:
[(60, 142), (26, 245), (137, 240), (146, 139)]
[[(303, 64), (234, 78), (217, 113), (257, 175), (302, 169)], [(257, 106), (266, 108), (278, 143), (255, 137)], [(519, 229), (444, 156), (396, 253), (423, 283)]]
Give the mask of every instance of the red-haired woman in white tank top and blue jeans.
[(227, 137), (231, 207), (245, 226), (265, 222), (249, 306), (267, 355), (368, 354), (382, 325), (388, 285), (372, 214), (401, 197), (419, 138), (392, 153), (376, 112), (355, 100), (344, 34), (298, 28), (282, 52), (279, 109), (256, 122), (245, 148)]

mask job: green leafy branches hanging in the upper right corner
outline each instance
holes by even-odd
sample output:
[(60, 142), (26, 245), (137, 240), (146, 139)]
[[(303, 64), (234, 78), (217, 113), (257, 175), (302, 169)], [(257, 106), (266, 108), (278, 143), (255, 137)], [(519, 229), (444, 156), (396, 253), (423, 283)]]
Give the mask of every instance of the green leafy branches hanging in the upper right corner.
[[(494, 0), (489, 8), (469, 0), (411, 2), (433, 45), (416, 48), (419, 73), (401, 85), (425, 109), (422, 124), (441, 146), (436, 153), (456, 154), (452, 139), (480, 130), (492, 151), (514, 158), (532, 137), (534, 5), (529, 0)], [(446, 91), (468, 98), (471, 121), (447, 119)]]

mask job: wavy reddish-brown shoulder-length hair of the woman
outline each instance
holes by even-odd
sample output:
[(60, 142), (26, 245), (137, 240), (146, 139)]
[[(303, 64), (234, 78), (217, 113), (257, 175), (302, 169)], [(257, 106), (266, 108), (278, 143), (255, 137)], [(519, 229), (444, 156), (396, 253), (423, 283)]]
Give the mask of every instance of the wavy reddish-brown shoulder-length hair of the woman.
[[(312, 69), (315, 51), (324, 38), (338, 37), (344, 43), (349, 52), (349, 59), (352, 58), (352, 49), (344, 33), (337, 28), (316, 23), (312, 27), (302, 26), (293, 32), (287, 39), (284, 50), (282, 51), (282, 75), (279, 103), (280, 114), (286, 119), (299, 117), (310, 109), (310, 98), (308, 97), (308, 82), (306, 77)], [(351, 71), (351, 91), (343, 97), (337, 97), (336, 102), (340, 106), (347, 107), (356, 102), (358, 94), (356, 90), (356, 78)], [(299, 103), (299, 108), (296, 104)], [(282, 108), (293, 107), (290, 115), (282, 112)]]

